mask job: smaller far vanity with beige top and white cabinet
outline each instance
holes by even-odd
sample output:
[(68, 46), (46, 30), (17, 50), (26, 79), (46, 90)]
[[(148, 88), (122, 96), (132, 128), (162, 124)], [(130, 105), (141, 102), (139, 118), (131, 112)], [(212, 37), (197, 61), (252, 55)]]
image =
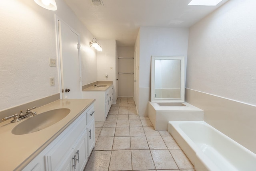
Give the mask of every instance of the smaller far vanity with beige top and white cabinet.
[[(106, 86), (104, 86), (106, 85)], [(95, 98), (95, 121), (105, 121), (113, 103), (113, 84), (100, 83), (83, 89), (83, 98)]]

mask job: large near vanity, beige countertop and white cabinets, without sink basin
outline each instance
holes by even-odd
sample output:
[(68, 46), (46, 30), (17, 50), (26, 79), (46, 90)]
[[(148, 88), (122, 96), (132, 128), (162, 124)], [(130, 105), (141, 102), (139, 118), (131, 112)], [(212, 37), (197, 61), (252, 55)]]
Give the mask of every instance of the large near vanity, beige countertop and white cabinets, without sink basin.
[(82, 171), (95, 145), (94, 101), (60, 99), (36, 108), (36, 116), (60, 108), (70, 110), (60, 121), (36, 132), (12, 132), (18, 124), (36, 116), (0, 123), (1, 170)]

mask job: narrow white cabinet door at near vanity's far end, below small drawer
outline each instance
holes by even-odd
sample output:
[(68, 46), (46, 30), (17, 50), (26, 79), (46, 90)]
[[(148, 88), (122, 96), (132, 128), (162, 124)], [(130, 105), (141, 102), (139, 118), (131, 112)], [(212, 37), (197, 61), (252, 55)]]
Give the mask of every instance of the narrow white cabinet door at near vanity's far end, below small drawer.
[(95, 146), (95, 124), (94, 119), (87, 125), (88, 157)]

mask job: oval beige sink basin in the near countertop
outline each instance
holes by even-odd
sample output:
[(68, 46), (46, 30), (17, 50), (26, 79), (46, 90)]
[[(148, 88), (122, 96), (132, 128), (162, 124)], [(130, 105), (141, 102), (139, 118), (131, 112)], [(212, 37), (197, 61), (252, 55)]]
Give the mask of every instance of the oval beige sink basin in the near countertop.
[(12, 129), (12, 134), (23, 135), (40, 131), (62, 120), (70, 113), (68, 108), (49, 110), (36, 116), (30, 116)]

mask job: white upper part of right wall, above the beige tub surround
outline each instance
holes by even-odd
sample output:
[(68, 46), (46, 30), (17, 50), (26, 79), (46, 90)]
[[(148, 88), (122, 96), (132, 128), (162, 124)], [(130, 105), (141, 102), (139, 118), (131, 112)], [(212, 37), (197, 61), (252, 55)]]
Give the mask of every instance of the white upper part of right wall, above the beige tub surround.
[(232, 0), (190, 28), (187, 88), (256, 105), (255, 7)]

